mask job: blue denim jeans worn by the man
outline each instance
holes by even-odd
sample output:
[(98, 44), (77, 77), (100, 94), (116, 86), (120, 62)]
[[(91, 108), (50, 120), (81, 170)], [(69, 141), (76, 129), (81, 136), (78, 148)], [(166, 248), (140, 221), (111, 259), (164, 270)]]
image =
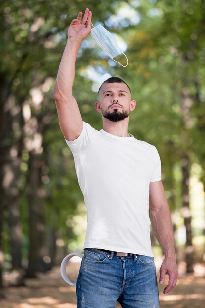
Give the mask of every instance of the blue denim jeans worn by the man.
[(154, 257), (85, 249), (76, 295), (77, 308), (159, 308)]

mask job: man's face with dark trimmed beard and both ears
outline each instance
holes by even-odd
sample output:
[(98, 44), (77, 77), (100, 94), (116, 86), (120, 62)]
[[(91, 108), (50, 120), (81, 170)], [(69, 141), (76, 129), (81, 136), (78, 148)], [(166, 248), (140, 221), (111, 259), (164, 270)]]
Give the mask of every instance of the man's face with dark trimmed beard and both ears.
[(95, 108), (104, 118), (118, 122), (129, 117), (135, 108), (135, 101), (131, 100), (129, 88), (124, 83), (105, 83), (99, 92), (99, 102)]

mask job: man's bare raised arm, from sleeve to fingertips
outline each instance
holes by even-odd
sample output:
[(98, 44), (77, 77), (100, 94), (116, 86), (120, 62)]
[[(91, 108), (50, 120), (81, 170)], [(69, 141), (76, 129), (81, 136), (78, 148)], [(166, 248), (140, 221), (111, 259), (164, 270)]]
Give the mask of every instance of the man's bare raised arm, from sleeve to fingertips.
[(80, 12), (68, 28), (68, 40), (54, 87), (54, 99), (60, 128), (65, 138), (69, 141), (78, 138), (83, 129), (78, 104), (72, 95), (78, 50), (82, 40), (91, 32), (92, 12), (86, 8), (83, 19), (82, 15), (82, 12)]

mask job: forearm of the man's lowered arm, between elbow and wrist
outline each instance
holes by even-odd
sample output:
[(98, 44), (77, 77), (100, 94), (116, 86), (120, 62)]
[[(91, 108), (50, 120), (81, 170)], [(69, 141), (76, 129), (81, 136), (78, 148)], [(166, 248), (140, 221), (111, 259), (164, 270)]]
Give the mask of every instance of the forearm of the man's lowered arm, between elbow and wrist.
[(176, 258), (172, 222), (167, 203), (157, 210), (151, 209), (151, 223), (165, 257)]

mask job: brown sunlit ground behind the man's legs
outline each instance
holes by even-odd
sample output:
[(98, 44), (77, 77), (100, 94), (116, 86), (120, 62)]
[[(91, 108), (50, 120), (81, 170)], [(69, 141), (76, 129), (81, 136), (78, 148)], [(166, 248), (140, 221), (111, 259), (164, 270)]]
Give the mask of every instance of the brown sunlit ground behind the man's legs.
[[(77, 277), (78, 268), (79, 264), (76, 263), (69, 267), (72, 281)], [(163, 295), (160, 286), (160, 308), (204, 308), (203, 271), (201, 267), (194, 276), (181, 275), (176, 288), (167, 295)], [(39, 275), (37, 279), (27, 279), (26, 287), (6, 289), (6, 297), (0, 301), (0, 308), (76, 308), (75, 288), (62, 280), (59, 267)], [(116, 308), (120, 307), (117, 304)]]

